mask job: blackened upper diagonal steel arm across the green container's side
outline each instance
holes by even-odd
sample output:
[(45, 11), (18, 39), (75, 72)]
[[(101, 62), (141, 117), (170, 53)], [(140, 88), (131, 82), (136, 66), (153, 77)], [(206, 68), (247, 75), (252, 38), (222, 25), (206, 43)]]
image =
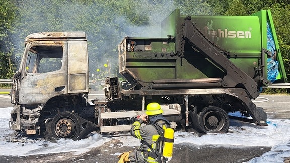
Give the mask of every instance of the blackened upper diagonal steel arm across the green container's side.
[(193, 48), (199, 50), (205, 57), (219, 66), (224, 72), (225, 76), (222, 79), (222, 87), (233, 88), (237, 86), (243, 87), (251, 99), (259, 96), (257, 89), (258, 84), (249, 75), (234, 65), (225, 55), (228, 54), (211, 41), (209, 41), (198, 28), (191, 22), (191, 17), (187, 16), (183, 24), (183, 46), (189, 43)]

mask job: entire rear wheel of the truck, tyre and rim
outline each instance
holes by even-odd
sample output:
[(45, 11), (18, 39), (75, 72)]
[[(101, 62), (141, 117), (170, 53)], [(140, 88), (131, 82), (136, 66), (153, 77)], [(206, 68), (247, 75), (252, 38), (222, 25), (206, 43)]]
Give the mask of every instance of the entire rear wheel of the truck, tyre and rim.
[(199, 113), (199, 123), (204, 133), (227, 132), (230, 120), (223, 109), (209, 106)]

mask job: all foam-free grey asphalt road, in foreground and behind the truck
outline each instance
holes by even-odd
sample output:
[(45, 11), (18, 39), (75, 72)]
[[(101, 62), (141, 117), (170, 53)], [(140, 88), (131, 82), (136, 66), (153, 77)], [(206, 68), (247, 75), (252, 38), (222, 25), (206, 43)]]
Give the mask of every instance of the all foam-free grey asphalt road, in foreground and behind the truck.
[[(0, 92), (5, 90), (0, 89)], [(9, 91), (9, 89), (8, 89)], [(91, 98), (100, 96), (99, 92), (92, 92)], [(89, 98), (90, 98), (89, 96)], [(286, 95), (264, 95), (261, 94), (255, 101), (257, 106), (263, 107), (269, 118), (290, 117), (290, 96)], [(0, 109), (12, 107), (10, 97), (7, 94), (0, 94)], [(1, 156), (0, 162), (117, 162), (114, 153), (130, 151), (132, 147), (116, 147), (117, 140), (112, 140), (101, 147), (92, 149), (84, 155), (73, 155), (72, 153), (57, 153), (46, 155), (30, 155), (25, 157)], [(115, 144), (114, 147), (110, 144)], [(135, 147), (137, 148), (137, 147)], [(245, 162), (251, 158), (259, 157), (270, 151), (270, 147), (240, 147), (192, 144), (176, 144), (173, 149), (173, 158), (170, 162)]]

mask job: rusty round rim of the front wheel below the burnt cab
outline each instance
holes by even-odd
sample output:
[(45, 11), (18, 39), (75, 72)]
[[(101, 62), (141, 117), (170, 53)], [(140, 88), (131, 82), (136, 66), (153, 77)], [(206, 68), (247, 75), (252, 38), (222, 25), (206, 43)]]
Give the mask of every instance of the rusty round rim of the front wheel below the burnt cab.
[(70, 118), (60, 118), (55, 124), (55, 133), (59, 137), (71, 137), (76, 132), (76, 124)]

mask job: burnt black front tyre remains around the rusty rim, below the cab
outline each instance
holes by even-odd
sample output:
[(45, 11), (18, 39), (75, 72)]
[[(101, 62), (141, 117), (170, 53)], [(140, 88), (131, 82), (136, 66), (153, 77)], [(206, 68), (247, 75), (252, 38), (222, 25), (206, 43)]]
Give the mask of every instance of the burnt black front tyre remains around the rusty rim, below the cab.
[[(69, 118), (72, 121), (74, 121), (75, 131), (74, 131), (74, 134), (72, 134), (71, 136), (62, 137), (56, 134), (56, 125), (57, 125), (56, 123), (59, 119), (62, 119), (62, 118)], [(45, 138), (48, 140), (56, 140), (60, 138), (81, 140), (85, 138), (88, 134), (90, 134), (92, 131), (95, 130), (96, 124), (80, 117), (76, 113), (71, 113), (67, 111), (67, 112), (58, 113), (57, 115), (55, 115), (53, 119), (48, 120), (45, 123), (45, 128), (46, 128)]]

